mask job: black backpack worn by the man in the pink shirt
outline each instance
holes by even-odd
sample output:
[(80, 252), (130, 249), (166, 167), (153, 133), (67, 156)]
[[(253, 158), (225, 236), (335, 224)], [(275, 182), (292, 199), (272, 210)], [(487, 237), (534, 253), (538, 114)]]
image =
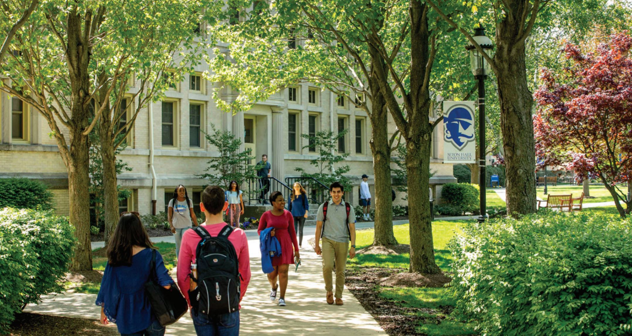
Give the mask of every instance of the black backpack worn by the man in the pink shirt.
[(204, 315), (233, 313), (239, 309), (241, 296), (239, 261), (228, 240), (233, 228), (225, 225), (217, 237), (210, 236), (202, 225), (193, 229), (202, 240), (195, 250), (197, 287), (190, 293), (191, 306)]

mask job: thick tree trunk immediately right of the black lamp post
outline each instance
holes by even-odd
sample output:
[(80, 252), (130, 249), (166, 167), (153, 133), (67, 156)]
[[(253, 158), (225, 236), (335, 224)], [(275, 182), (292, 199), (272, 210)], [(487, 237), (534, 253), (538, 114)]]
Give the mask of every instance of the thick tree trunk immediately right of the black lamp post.
[[(494, 61), (501, 101), (502, 144), (505, 150), (507, 213), (533, 213), (535, 208), (535, 140), (532, 93), (526, 84), (525, 45), (513, 44), (512, 25), (499, 25)], [(511, 30), (511, 32), (503, 31)], [(508, 35), (508, 36), (506, 36)]]

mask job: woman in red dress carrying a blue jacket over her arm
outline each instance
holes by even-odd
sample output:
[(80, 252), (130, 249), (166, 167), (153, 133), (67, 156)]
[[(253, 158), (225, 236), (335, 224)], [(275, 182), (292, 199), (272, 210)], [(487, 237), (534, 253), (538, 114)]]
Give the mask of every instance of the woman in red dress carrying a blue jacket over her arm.
[[(270, 301), (276, 300), (277, 289), (281, 286), (279, 306), (285, 306), (289, 264), (293, 264), (295, 258), (299, 258), (298, 242), (296, 241), (294, 229), (294, 217), (292, 217), (291, 212), (285, 210), (285, 200), (281, 191), (274, 191), (270, 195), (270, 203), (272, 204), (272, 210), (266, 211), (261, 215), (257, 233), (261, 234), (261, 231), (264, 231), (266, 228), (274, 227), (270, 236), (276, 237), (281, 244), (281, 255), (272, 257), (274, 272), (268, 274), (268, 281), (272, 286)], [(278, 285), (277, 278), (279, 279)]]

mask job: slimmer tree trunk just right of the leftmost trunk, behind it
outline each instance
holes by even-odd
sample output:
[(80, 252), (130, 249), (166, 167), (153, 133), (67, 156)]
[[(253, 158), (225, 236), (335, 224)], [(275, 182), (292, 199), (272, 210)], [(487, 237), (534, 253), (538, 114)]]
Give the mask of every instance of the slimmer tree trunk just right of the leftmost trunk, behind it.
[(116, 179), (116, 156), (114, 155), (114, 141), (109, 121), (104, 116), (99, 128), (101, 159), (103, 164), (103, 210), (105, 232), (104, 241), (109, 242), (116, 224), (118, 223), (118, 181)]

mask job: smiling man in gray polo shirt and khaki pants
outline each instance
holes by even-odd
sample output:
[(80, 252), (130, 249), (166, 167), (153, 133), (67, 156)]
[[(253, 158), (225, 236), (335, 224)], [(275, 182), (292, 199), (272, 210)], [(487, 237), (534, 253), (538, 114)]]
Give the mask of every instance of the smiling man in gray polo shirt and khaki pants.
[[(329, 186), (331, 201), (327, 202), (327, 216), (325, 217), (321, 204), (316, 215), (316, 246), (317, 255), (322, 254), (322, 277), (325, 280), (327, 291), (327, 303), (334, 304), (334, 286), (331, 272), (336, 261), (336, 304), (343, 305), (344, 268), (347, 263), (347, 251), (349, 258), (355, 256), (355, 212), (349, 207), (347, 217), (347, 205), (343, 201), (344, 187), (334, 182)], [(322, 233), (322, 249), (320, 249), (320, 236)], [(351, 249), (349, 249), (351, 240)]]

